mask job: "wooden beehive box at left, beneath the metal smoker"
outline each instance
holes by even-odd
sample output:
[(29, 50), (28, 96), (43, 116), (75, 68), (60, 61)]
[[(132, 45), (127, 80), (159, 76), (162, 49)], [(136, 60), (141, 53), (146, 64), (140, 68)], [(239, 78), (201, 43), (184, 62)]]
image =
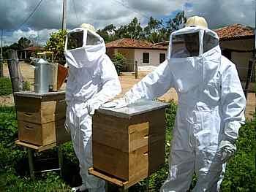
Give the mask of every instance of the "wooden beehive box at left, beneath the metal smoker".
[(15, 93), (18, 118), (18, 139), (33, 145), (67, 142), (70, 135), (64, 128), (65, 92)]

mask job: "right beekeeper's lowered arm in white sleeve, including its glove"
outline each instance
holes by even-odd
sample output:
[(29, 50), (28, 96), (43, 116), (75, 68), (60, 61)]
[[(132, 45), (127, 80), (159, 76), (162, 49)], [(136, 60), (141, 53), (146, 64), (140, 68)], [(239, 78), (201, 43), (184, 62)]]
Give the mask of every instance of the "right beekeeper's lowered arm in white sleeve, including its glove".
[(222, 68), (221, 106), (224, 130), (219, 150), (222, 151), (222, 161), (227, 161), (236, 152), (235, 142), (238, 138), (238, 131), (245, 120), (246, 99), (236, 66), (227, 58), (222, 57)]

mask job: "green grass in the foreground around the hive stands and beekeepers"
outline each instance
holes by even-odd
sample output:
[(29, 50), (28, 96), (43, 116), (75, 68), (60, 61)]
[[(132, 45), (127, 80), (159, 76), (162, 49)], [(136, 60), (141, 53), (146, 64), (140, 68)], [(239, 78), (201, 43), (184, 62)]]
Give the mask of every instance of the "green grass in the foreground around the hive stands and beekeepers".
[[(168, 174), (167, 157), (170, 153), (170, 141), (176, 116), (176, 104), (171, 103), (166, 110), (166, 153), (165, 166), (149, 178), (150, 191), (159, 191)], [(241, 127), (237, 142), (237, 153), (227, 165), (222, 191), (255, 191), (255, 128), (254, 121), (248, 121)], [(64, 175), (58, 172), (37, 174), (36, 180), (29, 177), (29, 164), (23, 147), (15, 145), (18, 138), (17, 120), (14, 107), (0, 107), (0, 191), (69, 191), (70, 186), (80, 184), (78, 159), (71, 142), (63, 145)], [(56, 149), (35, 153), (36, 158), (52, 158)], [(46, 165), (48, 166), (48, 165)], [(42, 168), (42, 164), (39, 164)], [(195, 177), (192, 185), (195, 185)], [(129, 192), (145, 191), (146, 180), (129, 188)]]

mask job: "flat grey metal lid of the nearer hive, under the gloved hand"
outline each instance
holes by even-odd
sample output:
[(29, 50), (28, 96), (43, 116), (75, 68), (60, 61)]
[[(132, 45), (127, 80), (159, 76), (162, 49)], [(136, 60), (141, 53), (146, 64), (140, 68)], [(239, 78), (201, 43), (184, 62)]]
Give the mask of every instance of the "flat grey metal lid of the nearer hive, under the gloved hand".
[(145, 112), (151, 112), (153, 110), (159, 110), (168, 107), (169, 103), (163, 103), (159, 101), (151, 100), (140, 100), (134, 104), (129, 104), (127, 107), (123, 108), (103, 108), (100, 107), (98, 112), (105, 115), (112, 115), (118, 118), (131, 118), (134, 115), (139, 115)]

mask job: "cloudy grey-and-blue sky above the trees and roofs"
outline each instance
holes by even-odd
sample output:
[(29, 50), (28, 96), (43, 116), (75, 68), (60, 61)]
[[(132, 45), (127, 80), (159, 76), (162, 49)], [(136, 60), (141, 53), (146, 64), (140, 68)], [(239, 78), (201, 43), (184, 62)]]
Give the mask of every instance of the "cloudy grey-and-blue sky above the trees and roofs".
[[(181, 10), (187, 16), (205, 17), (210, 28), (233, 23), (255, 26), (255, 0), (67, 0), (67, 28), (80, 23), (91, 23), (97, 29), (111, 23), (121, 26), (134, 17), (146, 26), (150, 16), (168, 20)], [(0, 0), (4, 45), (20, 37), (43, 44), (51, 32), (61, 28), (61, 12), (62, 0)]]

